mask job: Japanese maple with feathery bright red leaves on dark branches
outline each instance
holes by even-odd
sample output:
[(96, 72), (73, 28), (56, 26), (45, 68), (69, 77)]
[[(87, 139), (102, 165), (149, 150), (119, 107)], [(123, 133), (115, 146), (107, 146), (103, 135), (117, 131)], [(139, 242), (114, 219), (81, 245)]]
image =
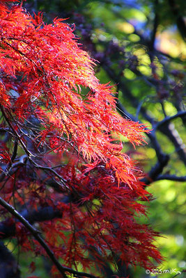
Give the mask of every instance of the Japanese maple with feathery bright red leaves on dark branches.
[(48, 255), (52, 277), (152, 268), (157, 233), (138, 220), (151, 196), (121, 140), (142, 144), (148, 129), (118, 115), (72, 26), (0, 3), (1, 238)]

